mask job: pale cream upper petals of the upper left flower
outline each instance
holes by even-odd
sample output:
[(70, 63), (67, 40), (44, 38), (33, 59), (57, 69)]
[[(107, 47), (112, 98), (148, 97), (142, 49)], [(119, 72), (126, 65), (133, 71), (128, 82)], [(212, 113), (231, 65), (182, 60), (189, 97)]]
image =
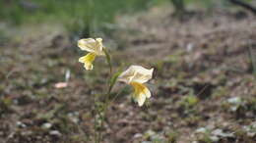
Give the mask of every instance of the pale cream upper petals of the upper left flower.
[(85, 50), (91, 53), (96, 53), (96, 55), (104, 55), (102, 51), (102, 39), (101, 38), (87, 38), (87, 39), (80, 39), (78, 41), (78, 47), (81, 50)]

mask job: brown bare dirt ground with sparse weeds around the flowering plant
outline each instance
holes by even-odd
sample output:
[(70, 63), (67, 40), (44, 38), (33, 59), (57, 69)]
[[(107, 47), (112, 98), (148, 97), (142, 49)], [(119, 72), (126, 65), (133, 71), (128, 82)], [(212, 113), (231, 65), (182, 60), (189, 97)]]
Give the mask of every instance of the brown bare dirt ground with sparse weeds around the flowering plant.
[[(216, 11), (179, 20), (153, 8), (118, 24), (114, 64), (154, 67), (153, 97), (139, 108), (128, 93), (120, 96), (107, 113), (103, 142), (256, 142), (249, 57), (249, 49), (256, 56), (256, 17)], [(41, 28), (0, 49), (0, 142), (91, 142), (93, 96), (105, 88), (107, 65), (99, 58), (94, 72), (85, 71), (81, 53)], [(68, 86), (56, 88), (68, 72)]]

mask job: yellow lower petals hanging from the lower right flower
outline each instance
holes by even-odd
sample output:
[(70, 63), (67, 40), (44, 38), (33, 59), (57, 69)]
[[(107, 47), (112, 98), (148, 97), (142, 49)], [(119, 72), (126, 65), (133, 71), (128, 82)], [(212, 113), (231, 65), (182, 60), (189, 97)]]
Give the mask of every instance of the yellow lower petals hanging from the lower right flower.
[(134, 87), (133, 98), (138, 102), (139, 106), (143, 106), (146, 98), (151, 97), (150, 90), (145, 85), (138, 82), (131, 82), (131, 85)]

